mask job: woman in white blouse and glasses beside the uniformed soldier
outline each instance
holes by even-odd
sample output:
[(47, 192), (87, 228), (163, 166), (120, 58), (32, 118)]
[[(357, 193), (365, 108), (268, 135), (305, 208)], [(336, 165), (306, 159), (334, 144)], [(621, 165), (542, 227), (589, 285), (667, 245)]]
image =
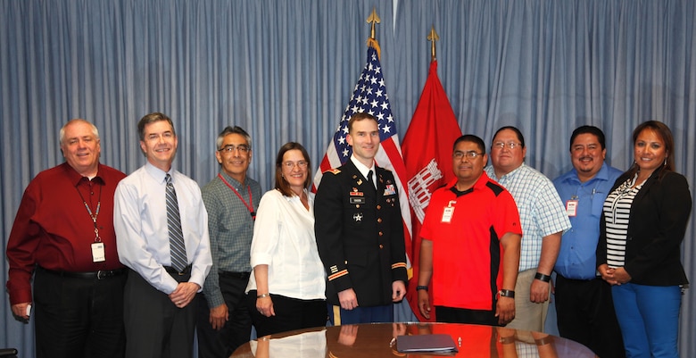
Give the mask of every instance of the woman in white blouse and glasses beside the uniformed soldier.
[(309, 154), (299, 143), (286, 143), (276, 159), (275, 188), (261, 197), (253, 225), (246, 292), (258, 337), (327, 323), (310, 185)]

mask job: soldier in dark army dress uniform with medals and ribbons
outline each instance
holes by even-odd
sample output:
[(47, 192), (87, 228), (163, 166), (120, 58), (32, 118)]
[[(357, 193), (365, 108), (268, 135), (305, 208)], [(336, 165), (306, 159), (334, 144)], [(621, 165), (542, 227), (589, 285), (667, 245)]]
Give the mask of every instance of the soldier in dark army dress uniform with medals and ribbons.
[(391, 171), (375, 165), (374, 116), (353, 115), (346, 140), (351, 159), (324, 173), (314, 201), (329, 320), (334, 325), (394, 321), (392, 303), (403, 299), (407, 279), (396, 182)]

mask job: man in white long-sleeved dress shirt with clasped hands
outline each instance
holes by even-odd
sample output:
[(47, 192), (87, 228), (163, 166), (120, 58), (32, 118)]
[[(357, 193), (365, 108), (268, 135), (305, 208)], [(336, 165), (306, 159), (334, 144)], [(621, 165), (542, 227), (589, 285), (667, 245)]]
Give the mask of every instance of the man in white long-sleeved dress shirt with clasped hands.
[[(212, 265), (208, 214), (198, 184), (171, 168), (178, 138), (170, 118), (150, 113), (137, 129), (147, 162), (121, 180), (113, 215), (120, 262), (131, 269), (124, 294), (126, 356), (191, 357), (193, 301)], [(168, 183), (176, 192), (185, 262), (170, 253)]]

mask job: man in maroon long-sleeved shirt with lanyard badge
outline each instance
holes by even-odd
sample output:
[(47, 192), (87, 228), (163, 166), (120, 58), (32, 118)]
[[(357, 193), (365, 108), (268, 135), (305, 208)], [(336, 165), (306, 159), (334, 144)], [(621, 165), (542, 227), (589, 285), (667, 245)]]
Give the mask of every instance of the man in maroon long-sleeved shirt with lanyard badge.
[(34, 316), (38, 358), (122, 357), (128, 275), (116, 252), (113, 193), (126, 175), (99, 163), (92, 123), (69, 121), (60, 140), (65, 162), (31, 180), (7, 243), (12, 313)]

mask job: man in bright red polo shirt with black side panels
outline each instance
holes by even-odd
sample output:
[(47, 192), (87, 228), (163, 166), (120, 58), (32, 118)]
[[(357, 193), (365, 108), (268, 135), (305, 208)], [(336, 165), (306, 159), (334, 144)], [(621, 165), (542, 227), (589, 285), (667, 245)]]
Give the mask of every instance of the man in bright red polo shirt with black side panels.
[(522, 227), (510, 193), (484, 172), (484, 141), (454, 142), (457, 179), (435, 191), (420, 229), (418, 308), (437, 321), (504, 326), (515, 318)]

